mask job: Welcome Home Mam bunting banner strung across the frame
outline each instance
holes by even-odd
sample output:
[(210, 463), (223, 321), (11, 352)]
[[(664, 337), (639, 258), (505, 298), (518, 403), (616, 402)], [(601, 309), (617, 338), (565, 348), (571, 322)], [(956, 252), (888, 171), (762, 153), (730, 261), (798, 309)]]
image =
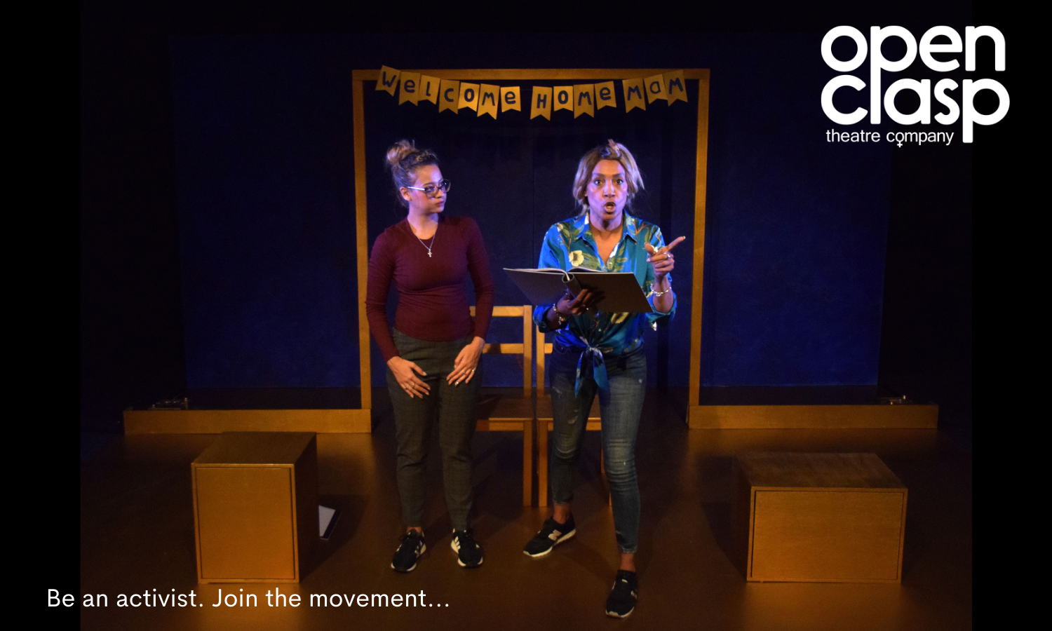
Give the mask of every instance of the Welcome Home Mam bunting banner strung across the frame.
[[(529, 103), (529, 118), (544, 117), (551, 120), (553, 113), (566, 109), (573, 118), (586, 115), (594, 118), (595, 111), (604, 107), (623, 108), (628, 113), (635, 108), (646, 110), (655, 101), (671, 105), (676, 101), (687, 102), (687, 82), (683, 70), (623, 79), (619, 82), (580, 83), (574, 85), (533, 85), (524, 88), (519, 85), (490, 85), (488, 83), (466, 83), (452, 79), (439, 79), (420, 73), (399, 70), (389, 66), (380, 67), (377, 90), (398, 98), (398, 104), (420, 105), (429, 101), (439, 106), (439, 111), (449, 110), (461, 114), (469, 109), (474, 116), (483, 115), (497, 119), (498, 113), (522, 111), (523, 104)], [(526, 90), (529, 90), (528, 95)], [(620, 94), (619, 94), (620, 93)]]

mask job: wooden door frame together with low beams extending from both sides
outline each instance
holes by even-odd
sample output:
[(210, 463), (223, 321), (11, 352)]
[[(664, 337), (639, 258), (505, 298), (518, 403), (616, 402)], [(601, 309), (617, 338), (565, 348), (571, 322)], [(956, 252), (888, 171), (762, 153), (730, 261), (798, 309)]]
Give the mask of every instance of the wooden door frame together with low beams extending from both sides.
[[(422, 75), (461, 81), (610, 81), (663, 75), (680, 68), (420, 69)], [(690, 309), (690, 374), (687, 423), (691, 429), (744, 428), (934, 428), (937, 405), (700, 405), (702, 378), (702, 287), (705, 272), (706, 188), (709, 144), (709, 70), (683, 68), (696, 80), (693, 284)], [(351, 72), (355, 137), (355, 217), (358, 265), (358, 337), (361, 408), (341, 410), (128, 410), (125, 433), (219, 433), (223, 431), (370, 432), (372, 371), (365, 314), (369, 244), (366, 199), (365, 82), (379, 69)], [(688, 97), (688, 104), (690, 103)], [(543, 358), (543, 353), (539, 350)], [(542, 368), (543, 370), (543, 368)], [(539, 375), (543, 383), (543, 374)]]

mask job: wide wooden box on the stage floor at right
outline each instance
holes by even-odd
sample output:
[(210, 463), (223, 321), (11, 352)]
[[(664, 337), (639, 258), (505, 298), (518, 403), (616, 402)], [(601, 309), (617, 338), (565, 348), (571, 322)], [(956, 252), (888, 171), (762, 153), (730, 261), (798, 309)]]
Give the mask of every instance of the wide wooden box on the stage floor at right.
[(876, 455), (746, 453), (733, 479), (748, 581), (902, 582), (907, 490)]

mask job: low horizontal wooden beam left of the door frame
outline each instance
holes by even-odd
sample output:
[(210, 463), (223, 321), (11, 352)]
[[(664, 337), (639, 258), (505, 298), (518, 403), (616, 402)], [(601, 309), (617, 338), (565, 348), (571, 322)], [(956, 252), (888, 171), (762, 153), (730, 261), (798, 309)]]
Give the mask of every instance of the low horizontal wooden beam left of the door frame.
[(312, 431), (369, 433), (370, 410), (127, 410), (124, 433)]

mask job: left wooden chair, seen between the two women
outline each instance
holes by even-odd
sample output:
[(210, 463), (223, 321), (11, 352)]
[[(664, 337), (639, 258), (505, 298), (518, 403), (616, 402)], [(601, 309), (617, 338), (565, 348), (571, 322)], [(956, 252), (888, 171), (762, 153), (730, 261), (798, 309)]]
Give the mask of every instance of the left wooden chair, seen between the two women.
[[(533, 503), (533, 307), (529, 305), (493, 307), (493, 318), (520, 318), (523, 341), (513, 344), (487, 344), (485, 354), (521, 354), (523, 388), (489, 389), (479, 400), (476, 431), (521, 431), (523, 434), (523, 506)], [(471, 307), (474, 316), (474, 307)], [(544, 337), (542, 335), (542, 340)], [(494, 391), (498, 390), (498, 391)], [(511, 391), (508, 391), (511, 390)]]

